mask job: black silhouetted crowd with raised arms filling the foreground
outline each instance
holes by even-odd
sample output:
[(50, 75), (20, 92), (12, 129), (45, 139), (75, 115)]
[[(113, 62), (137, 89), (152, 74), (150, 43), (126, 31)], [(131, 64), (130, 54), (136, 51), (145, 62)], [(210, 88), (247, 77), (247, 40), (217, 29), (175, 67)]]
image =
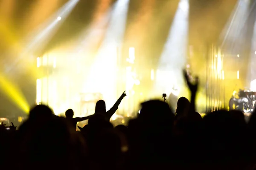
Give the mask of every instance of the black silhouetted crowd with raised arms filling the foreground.
[[(196, 112), (198, 78), (184, 71), (190, 102), (181, 97), (176, 113), (159, 100), (141, 104), (128, 126), (113, 127), (110, 111), (96, 103), (95, 114), (73, 118), (55, 116), (46, 105), (36, 105), (16, 130), (0, 126), (1, 168), (13, 170), (253, 170), (256, 163), (256, 113), (244, 121), (239, 111), (213, 111), (204, 118)], [(88, 119), (79, 127), (77, 122)]]

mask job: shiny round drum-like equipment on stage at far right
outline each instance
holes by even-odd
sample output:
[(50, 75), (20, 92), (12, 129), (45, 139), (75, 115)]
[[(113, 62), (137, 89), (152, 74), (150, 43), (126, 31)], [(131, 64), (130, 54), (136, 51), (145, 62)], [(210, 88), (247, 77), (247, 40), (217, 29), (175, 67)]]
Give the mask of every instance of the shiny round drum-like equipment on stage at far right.
[(242, 112), (252, 112), (255, 107), (256, 92), (239, 89), (239, 92), (233, 91), (229, 102), (230, 110), (239, 110)]

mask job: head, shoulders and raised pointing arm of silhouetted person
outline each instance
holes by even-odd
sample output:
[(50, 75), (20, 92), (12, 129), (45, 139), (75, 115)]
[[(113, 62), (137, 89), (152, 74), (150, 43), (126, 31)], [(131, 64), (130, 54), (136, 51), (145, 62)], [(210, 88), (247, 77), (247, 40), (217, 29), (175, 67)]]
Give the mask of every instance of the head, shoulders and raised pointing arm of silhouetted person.
[(116, 103), (113, 105), (113, 107), (106, 111), (106, 103), (104, 100), (99, 100), (96, 102), (95, 105), (95, 113), (94, 114), (102, 114), (105, 116), (105, 118), (109, 121), (110, 118), (113, 116), (113, 114), (118, 109), (118, 106), (120, 105), (122, 99), (126, 96), (125, 91), (122, 93), (122, 95), (119, 97), (119, 99), (116, 101)]

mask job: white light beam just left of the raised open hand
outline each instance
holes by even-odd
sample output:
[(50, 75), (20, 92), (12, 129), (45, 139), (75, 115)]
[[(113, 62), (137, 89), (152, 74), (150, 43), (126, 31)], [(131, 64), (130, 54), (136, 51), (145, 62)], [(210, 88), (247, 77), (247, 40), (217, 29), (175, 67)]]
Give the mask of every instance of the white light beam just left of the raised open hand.
[(188, 17), (189, 0), (180, 0), (158, 63), (154, 86), (157, 94), (170, 94), (172, 87), (183, 87), (182, 69), (186, 65)]

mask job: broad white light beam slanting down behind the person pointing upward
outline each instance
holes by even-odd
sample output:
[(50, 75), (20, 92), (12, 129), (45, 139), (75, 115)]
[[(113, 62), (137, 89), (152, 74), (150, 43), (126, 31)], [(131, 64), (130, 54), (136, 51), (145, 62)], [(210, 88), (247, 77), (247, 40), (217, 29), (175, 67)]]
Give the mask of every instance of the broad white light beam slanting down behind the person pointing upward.
[[(129, 0), (118, 0), (113, 5), (113, 10), (108, 23), (105, 37), (102, 41), (90, 74), (85, 82), (84, 91), (101, 92), (106, 99), (108, 108), (116, 100), (116, 59), (117, 47), (122, 45)], [(99, 71), (99, 68), (102, 71)], [(94, 77), (97, 77), (95, 79)], [(89, 83), (90, 82), (90, 85)], [(104, 82), (104, 86), (102, 83)], [(100, 85), (96, 87), (96, 85)], [(118, 94), (119, 95), (119, 94)]]

